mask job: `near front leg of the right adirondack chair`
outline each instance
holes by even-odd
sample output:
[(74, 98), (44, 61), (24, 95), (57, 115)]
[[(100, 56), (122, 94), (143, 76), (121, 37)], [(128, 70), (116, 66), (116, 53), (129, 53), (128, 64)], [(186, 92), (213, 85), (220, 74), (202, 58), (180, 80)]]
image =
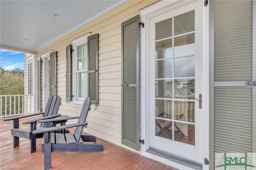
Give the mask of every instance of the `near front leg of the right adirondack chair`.
[[(47, 137), (46, 137), (47, 136)], [(52, 168), (51, 132), (44, 133), (44, 169)]]

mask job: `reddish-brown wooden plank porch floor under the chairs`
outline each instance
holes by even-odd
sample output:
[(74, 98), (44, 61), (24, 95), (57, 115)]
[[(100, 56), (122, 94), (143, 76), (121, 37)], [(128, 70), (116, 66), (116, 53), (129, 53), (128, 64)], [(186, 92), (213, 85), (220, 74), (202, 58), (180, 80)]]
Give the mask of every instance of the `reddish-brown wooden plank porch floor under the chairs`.
[[(35, 116), (38, 117), (38, 116)], [(40, 116), (39, 116), (40, 117)], [(24, 118), (22, 121), (31, 118)], [(22, 125), (20, 127), (28, 126)], [(0, 120), (0, 170), (41, 170), (44, 169), (44, 154), (41, 152), (42, 139), (36, 141), (37, 151), (29, 153), (29, 140), (20, 138), (20, 146), (12, 148), (10, 129), (12, 121)], [(103, 152), (52, 152), (53, 170), (174, 170), (154, 160), (130, 152), (124, 148), (97, 140), (104, 146)]]

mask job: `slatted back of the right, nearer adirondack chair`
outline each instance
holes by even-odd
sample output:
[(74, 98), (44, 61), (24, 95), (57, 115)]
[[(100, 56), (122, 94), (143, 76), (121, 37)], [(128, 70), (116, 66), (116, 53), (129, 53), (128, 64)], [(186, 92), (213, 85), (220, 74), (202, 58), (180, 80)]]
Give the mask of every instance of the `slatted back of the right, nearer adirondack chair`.
[[(86, 97), (84, 100), (84, 105), (82, 107), (82, 111), (80, 113), (80, 117), (78, 119), (78, 123), (84, 123), (86, 121), (86, 117), (88, 112), (90, 111), (91, 100), (90, 97)], [(76, 127), (74, 136), (76, 138), (76, 142), (79, 142), (81, 134), (82, 134), (83, 127)]]

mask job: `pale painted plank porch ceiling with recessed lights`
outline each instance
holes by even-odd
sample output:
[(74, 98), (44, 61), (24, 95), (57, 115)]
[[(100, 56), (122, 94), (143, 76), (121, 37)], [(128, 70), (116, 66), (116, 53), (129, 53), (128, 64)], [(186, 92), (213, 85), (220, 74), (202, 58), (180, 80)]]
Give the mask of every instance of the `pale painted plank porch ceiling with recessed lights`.
[(0, 0), (0, 44), (37, 51), (125, 1)]

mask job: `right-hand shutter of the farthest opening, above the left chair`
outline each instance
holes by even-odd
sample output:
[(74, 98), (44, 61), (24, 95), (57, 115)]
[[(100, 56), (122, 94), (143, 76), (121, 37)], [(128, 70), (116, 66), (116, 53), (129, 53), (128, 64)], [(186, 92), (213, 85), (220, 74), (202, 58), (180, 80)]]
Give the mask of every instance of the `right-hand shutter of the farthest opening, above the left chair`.
[(57, 51), (50, 53), (50, 96), (57, 95)]

